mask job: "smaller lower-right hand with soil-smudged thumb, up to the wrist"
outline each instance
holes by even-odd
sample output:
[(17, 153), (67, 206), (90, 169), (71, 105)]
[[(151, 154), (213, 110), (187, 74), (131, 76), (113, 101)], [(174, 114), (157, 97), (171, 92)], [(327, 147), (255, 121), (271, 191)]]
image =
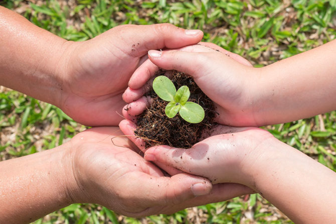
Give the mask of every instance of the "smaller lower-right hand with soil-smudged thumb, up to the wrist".
[[(274, 137), (258, 128), (234, 128), (218, 125), (211, 137), (190, 149), (154, 146), (145, 151), (148, 161), (173, 166), (183, 172), (203, 176), (217, 183), (239, 183), (255, 190), (252, 170), (256, 170), (263, 147)], [(271, 161), (270, 161), (271, 162)]]

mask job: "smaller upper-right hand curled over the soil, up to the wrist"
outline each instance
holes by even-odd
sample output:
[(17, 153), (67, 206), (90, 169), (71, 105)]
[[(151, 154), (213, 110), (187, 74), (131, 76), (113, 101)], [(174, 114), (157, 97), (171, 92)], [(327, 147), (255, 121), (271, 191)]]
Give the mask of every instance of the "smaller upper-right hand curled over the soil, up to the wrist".
[[(204, 43), (203, 43), (204, 44)], [(215, 103), (219, 116), (217, 122), (230, 126), (257, 126), (254, 120), (253, 105), (255, 100), (251, 89), (251, 77), (256, 76), (256, 69), (237, 54), (228, 52), (217, 45), (194, 45), (180, 50), (168, 50), (163, 52), (149, 51), (148, 56), (152, 63), (143, 63), (133, 74), (129, 88), (123, 98), (133, 104), (132, 108), (138, 108), (134, 113), (130, 110), (124, 114), (138, 115), (144, 107), (143, 99), (140, 106), (132, 103), (138, 99), (148, 86), (144, 83), (154, 75), (157, 67), (167, 70), (186, 72), (194, 77), (195, 82)], [(143, 86), (144, 87), (141, 87)], [(141, 109), (140, 109), (141, 108)]]

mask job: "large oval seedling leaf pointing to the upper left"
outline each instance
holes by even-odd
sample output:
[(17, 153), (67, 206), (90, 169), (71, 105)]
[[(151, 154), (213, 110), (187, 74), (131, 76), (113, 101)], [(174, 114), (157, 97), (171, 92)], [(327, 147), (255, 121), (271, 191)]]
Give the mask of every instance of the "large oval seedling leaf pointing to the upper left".
[(166, 76), (160, 75), (153, 80), (153, 90), (161, 99), (173, 101), (176, 94), (174, 83)]

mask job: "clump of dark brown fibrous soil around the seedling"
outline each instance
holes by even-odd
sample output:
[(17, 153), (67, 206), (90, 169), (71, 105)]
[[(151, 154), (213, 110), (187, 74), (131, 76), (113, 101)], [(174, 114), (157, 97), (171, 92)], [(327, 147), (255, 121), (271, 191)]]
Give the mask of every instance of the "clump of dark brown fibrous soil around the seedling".
[[(164, 75), (165, 71), (159, 71), (158, 75)], [(174, 118), (168, 118), (164, 108), (168, 102), (160, 99), (151, 89), (147, 95), (153, 98), (150, 107), (147, 108), (137, 120), (136, 136), (143, 138), (145, 148), (155, 145), (170, 145), (177, 148), (190, 148), (197, 142), (203, 132), (209, 132), (215, 118), (213, 101), (198, 87), (194, 79), (185, 73), (173, 71), (170, 77), (178, 89), (187, 85), (190, 89), (188, 101), (200, 104), (205, 111), (204, 120), (198, 124), (191, 124), (183, 120), (179, 114)]]

